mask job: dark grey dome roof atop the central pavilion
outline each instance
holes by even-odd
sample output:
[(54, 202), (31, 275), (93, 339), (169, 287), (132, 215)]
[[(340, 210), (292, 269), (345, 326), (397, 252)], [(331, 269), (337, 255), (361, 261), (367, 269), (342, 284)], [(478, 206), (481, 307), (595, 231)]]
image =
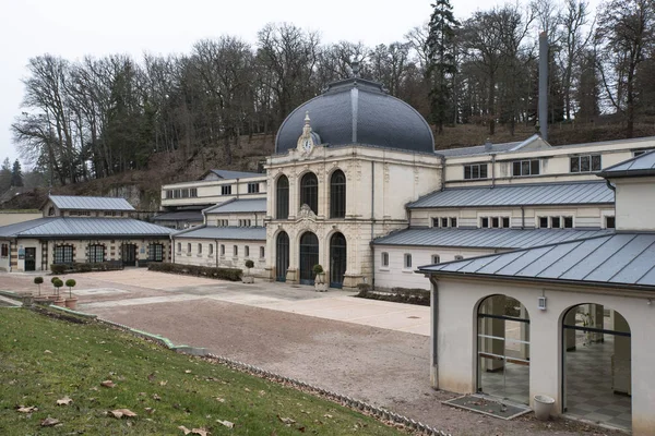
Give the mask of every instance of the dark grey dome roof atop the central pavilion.
[(330, 84), (323, 94), (297, 107), (279, 126), (275, 153), (296, 148), (306, 111), (322, 144), (434, 152), (432, 131), (420, 113), (386, 94), (381, 84), (353, 77)]

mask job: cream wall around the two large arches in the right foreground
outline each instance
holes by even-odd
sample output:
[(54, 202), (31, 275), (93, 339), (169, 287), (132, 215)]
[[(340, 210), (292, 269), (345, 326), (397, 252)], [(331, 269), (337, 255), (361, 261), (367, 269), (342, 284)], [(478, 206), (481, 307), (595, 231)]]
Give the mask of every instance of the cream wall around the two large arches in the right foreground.
[[(559, 286), (529, 286), (442, 277), (437, 284), (438, 387), (461, 393), (476, 390), (476, 314), (486, 296), (505, 294), (516, 299), (527, 310), (531, 324), (529, 398), (547, 395), (556, 399), (555, 413), (561, 413), (562, 392), (562, 327), (564, 312), (583, 303), (602, 304), (618, 311), (629, 323), (632, 342), (632, 432), (652, 435), (655, 428), (655, 304), (647, 296), (655, 293), (634, 293), (616, 290), (616, 294), (592, 293), (597, 289), (567, 289)], [(547, 310), (537, 308), (537, 298), (547, 298)], [(434, 311), (434, 310), (433, 310)], [(432, 356), (431, 362), (434, 361)], [(434, 371), (434, 368), (433, 368)]]

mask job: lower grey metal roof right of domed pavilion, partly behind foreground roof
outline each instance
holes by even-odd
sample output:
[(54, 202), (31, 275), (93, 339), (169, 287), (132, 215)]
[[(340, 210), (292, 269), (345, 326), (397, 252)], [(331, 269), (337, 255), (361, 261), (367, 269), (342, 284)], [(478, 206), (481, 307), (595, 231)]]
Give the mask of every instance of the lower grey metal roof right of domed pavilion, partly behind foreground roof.
[(405, 229), (376, 239), (376, 245), (527, 249), (612, 234), (612, 230), (575, 229)]

